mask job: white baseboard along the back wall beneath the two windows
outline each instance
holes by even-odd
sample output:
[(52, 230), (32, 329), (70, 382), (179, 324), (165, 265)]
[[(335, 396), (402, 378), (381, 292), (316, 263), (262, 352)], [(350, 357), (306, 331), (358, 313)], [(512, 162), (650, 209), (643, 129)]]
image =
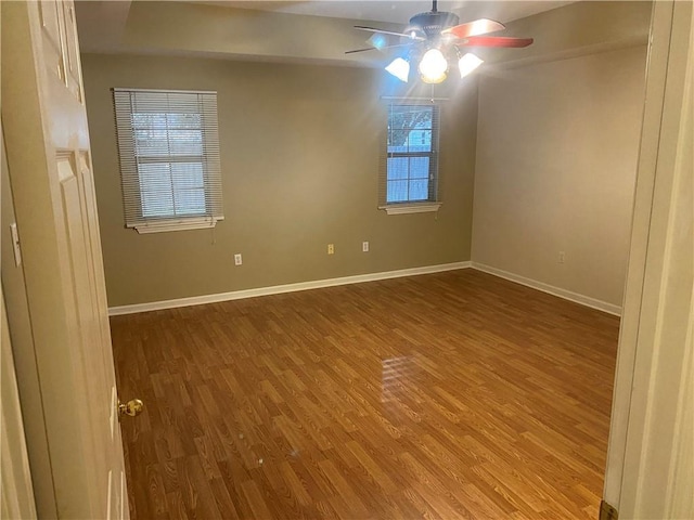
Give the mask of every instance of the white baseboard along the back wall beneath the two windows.
[(471, 262), (442, 263), (439, 265), (425, 265), (423, 268), (401, 269), (398, 271), (385, 271), (381, 273), (357, 274), (354, 276), (343, 276), (339, 278), (316, 280), (311, 282), (300, 282), (297, 284), (274, 285), (272, 287), (258, 287), (256, 289), (234, 290), (231, 292), (220, 292), (217, 295), (193, 296), (190, 298), (177, 298), (175, 300), (152, 301), (149, 303), (136, 303), (132, 306), (112, 307), (108, 309), (110, 316), (121, 314), (134, 314), (137, 312), (160, 311), (163, 309), (175, 309), (178, 307), (202, 306), (205, 303), (217, 303), (220, 301), (240, 300), (242, 298), (255, 298), (258, 296), (280, 295), (282, 292), (294, 292), (297, 290), (319, 289), (322, 287), (334, 287), (336, 285), (360, 284), (363, 282), (375, 282), (378, 280), (399, 278), (402, 276), (416, 276), (417, 274), (440, 273), (457, 269), (466, 269)]

